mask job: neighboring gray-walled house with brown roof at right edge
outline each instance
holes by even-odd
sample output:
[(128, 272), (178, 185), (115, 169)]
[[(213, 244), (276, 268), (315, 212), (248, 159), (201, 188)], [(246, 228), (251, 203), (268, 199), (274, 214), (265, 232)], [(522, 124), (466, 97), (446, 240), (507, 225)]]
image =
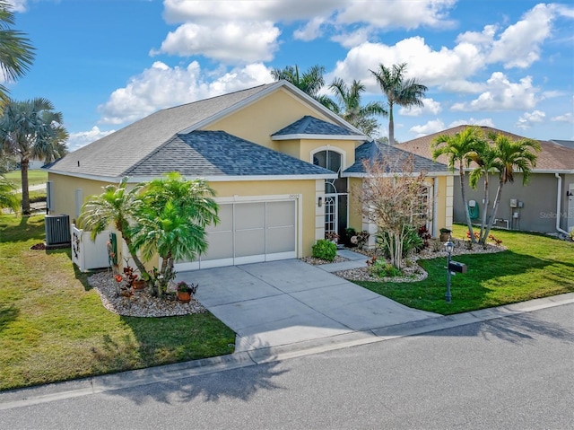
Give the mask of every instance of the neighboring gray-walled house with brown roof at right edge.
[[(413, 139), (399, 148), (423, 157), (432, 156), (431, 143), (439, 135), (454, 135), (468, 126), (458, 126), (448, 130)], [(489, 132), (501, 133), (513, 140), (523, 139), (506, 131), (492, 127), (481, 127), (484, 135)], [(515, 174), (514, 183), (506, 183), (502, 188), (500, 207), (497, 213), (497, 227), (542, 233), (568, 233), (574, 228), (574, 143), (572, 141), (539, 141), (542, 151), (538, 154), (536, 166), (532, 170), (526, 186), (522, 185), (522, 174)], [(439, 162), (447, 162), (440, 157)], [(468, 170), (470, 171), (470, 169)], [(457, 175), (457, 172), (455, 173)], [(460, 178), (455, 177), (454, 221), (465, 223), (465, 210), (460, 195)], [(491, 175), (489, 182), (492, 202), (498, 189), (498, 174)], [(467, 187), (467, 199), (474, 200), (480, 209), (473, 210), (474, 223), (479, 224), (483, 200), (483, 181), (477, 189)]]

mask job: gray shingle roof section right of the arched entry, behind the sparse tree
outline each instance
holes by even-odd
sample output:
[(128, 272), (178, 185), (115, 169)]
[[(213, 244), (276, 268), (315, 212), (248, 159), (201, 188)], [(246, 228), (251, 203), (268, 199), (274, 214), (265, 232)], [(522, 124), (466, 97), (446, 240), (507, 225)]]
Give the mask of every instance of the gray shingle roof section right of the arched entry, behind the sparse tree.
[(355, 162), (344, 171), (344, 176), (364, 174), (363, 162), (376, 160), (378, 157), (387, 158), (396, 164), (396, 171), (400, 171), (403, 163), (409, 158), (413, 159), (413, 171), (425, 171), (431, 173), (448, 173), (448, 166), (440, 162), (433, 162), (417, 154), (411, 154), (395, 146), (379, 144), (375, 141), (365, 142), (355, 149)]

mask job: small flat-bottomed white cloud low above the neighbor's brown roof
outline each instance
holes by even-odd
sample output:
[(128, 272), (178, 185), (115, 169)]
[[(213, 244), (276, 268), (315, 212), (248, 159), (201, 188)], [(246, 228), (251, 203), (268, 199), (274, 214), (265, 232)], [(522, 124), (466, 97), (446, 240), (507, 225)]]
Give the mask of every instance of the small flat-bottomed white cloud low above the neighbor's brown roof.
[(452, 105), (451, 110), (527, 110), (536, 105), (536, 92), (532, 77), (526, 76), (519, 83), (511, 83), (500, 72), (494, 72), (486, 83), (487, 90), (474, 101)]

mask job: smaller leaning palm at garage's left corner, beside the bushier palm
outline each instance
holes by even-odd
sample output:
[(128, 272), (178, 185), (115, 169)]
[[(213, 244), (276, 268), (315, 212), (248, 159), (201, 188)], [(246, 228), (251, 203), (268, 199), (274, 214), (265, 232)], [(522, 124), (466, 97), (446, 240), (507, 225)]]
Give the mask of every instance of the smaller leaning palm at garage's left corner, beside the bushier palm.
[(142, 261), (138, 258), (129, 232), (130, 224), (134, 223), (135, 212), (142, 205), (140, 191), (143, 184), (137, 184), (133, 189), (126, 189), (127, 177), (118, 185), (103, 187), (104, 192), (92, 197), (82, 206), (82, 214), (77, 219), (78, 226), (91, 232), (91, 240), (113, 224), (122, 233), (127, 249), (134, 259), (140, 273), (146, 273)]

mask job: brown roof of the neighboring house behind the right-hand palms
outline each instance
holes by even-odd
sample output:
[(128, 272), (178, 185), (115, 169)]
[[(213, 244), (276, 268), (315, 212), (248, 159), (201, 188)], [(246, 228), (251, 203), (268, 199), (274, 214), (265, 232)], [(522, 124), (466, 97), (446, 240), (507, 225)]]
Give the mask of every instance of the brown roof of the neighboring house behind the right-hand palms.
[[(457, 126), (448, 128), (447, 130), (440, 131), (438, 133), (433, 133), (428, 136), (418, 137), (408, 142), (396, 145), (397, 147), (408, 151), (409, 153), (421, 155), (422, 157), (427, 157), (432, 159), (431, 143), (432, 141), (440, 135), (455, 135), (463, 131), (469, 126)], [(509, 136), (512, 140), (525, 139), (525, 136), (518, 136), (507, 131), (499, 130), (493, 127), (479, 127), (483, 130), (486, 135), (490, 132), (504, 136)], [(574, 149), (565, 146), (558, 145), (556, 143), (539, 141), (542, 146), (542, 151), (538, 154), (538, 159), (536, 160), (536, 167), (533, 169), (534, 172), (543, 171), (572, 171), (574, 172)], [(446, 155), (442, 155), (438, 159), (439, 162), (448, 163)]]

